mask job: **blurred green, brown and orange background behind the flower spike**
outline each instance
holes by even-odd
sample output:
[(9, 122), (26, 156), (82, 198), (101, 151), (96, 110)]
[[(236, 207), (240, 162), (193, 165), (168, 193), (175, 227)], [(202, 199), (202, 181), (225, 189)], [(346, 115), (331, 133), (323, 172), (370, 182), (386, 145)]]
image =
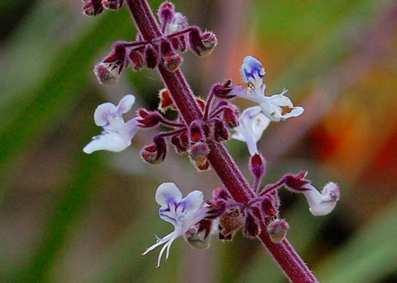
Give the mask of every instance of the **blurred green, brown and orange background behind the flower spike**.
[[(259, 149), (266, 182), (308, 170), (318, 188), (340, 185), (335, 211), (314, 217), (299, 195), (281, 192), (289, 240), (320, 282), (397, 282), (396, 1), (174, 1), (189, 23), (213, 30), (210, 57), (184, 57), (198, 96), (233, 78), (247, 55), (267, 69), (267, 94), (289, 89), (303, 116), (273, 123)], [(150, 1), (157, 10), (160, 1)], [(155, 71), (124, 71), (100, 86), (92, 69), (115, 40), (133, 40), (125, 7), (88, 18), (80, 1), (0, 3), (0, 282), (286, 282), (257, 241), (237, 233), (210, 250), (182, 239), (155, 269), (158, 250), (140, 253), (172, 230), (157, 216), (155, 190), (174, 182), (206, 197), (221, 184), (170, 150), (149, 166), (140, 131), (119, 154), (82, 148), (101, 129), (96, 105), (134, 93), (155, 109)], [(237, 101), (241, 108), (250, 106)], [(228, 147), (247, 171), (245, 144)]]

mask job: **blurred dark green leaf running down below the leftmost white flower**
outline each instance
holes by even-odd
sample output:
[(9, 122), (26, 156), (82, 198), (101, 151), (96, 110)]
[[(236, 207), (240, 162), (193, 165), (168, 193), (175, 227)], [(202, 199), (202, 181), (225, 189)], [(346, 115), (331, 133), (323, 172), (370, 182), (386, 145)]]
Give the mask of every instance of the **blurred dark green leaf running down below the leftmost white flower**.
[(18, 262), (18, 266), (14, 267), (17, 279), (13, 282), (50, 282), (52, 267), (67, 239), (72, 236), (74, 225), (89, 203), (91, 193), (104, 183), (106, 175), (103, 174), (104, 167), (98, 156), (88, 156), (82, 152), (75, 155), (77, 161), (71, 168), (73, 173), (70, 174), (70, 183), (60, 189), (38, 250), (33, 250), (28, 262)]

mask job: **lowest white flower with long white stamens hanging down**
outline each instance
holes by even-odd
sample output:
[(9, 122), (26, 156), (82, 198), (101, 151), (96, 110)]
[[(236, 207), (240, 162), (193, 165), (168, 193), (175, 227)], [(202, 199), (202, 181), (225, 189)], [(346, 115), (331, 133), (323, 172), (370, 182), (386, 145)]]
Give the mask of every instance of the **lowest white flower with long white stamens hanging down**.
[(157, 238), (156, 243), (147, 248), (142, 255), (164, 244), (157, 260), (157, 267), (160, 267), (164, 251), (167, 249), (165, 259), (168, 260), (172, 243), (198, 221), (204, 219), (208, 207), (204, 204), (202, 192), (195, 190), (182, 199), (181, 191), (174, 183), (162, 183), (157, 188), (156, 202), (161, 206), (160, 218), (174, 225), (174, 231), (163, 238)]

